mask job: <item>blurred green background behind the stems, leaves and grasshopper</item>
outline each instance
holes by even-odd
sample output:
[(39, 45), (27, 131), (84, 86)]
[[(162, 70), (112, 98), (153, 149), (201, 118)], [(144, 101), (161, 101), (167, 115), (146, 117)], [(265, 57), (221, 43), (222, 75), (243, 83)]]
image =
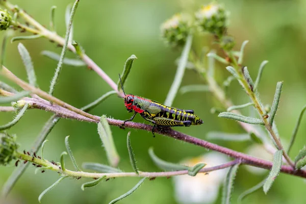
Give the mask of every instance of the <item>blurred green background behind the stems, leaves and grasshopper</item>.
[[(71, 0), (13, 0), (11, 3), (27, 10), (46, 26), (49, 23), (50, 7), (56, 5), (57, 31), (64, 36), (65, 8), (72, 2)], [(160, 36), (160, 24), (177, 12), (196, 11), (200, 5), (207, 3), (209, 2), (195, 0), (80, 1), (74, 17), (73, 39), (81, 43), (86, 54), (115, 82), (117, 82), (118, 73), (121, 73), (125, 60), (132, 54), (136, 55), (138, 59), (134, 62), (130, 76), (125, 83), (125, 92), (163, 102), (174, 78), (176, 71), (174, 61), (180, 56), (180, 50), (165, 46)], [(284, 81), (281, 104), (275, 120), (282, 141), (288, 144), (298, 114), (302, 106), (306, 104), (306, 69), (304, 66), (306, 2), (302, 0), (236, 0), (221, 3), (231, 13), (228, 32), (237, 40), (236, 48), (239, 49), (244, 40), (250, 40), (246, 46), (244, 64), (248, 66), (253, 78), (256, 77), (260, 63), (263, 60), (269, 61), (259, 87), (262, 102), (271, 104), (276, 82)], [(20, 34), (16, 33), (16, 35)], [(33, 59), (40, 88), (47, 91), (57, 63), (41, 56), (40, 53), (45, 49), (60, 53), (61, 48), (57, 48), (56, 44), (46, 39), (22, 43), (29, 49)], [(196, 38), (194, 44), (215, 47), (209, 35)], [(221, 52), (219, 54), (222, 55)], [(67, 56), (73, 57), (71, 53), (68, 53)], [(25, 70), (17, 51), (17, 42), (8, 43), (5, 65), (18, 77), (26, 79)], [(216, 72), (219, 82), (229, 75), (225, 66), (219, 63), (216, 63)], [(182, 84), (202, 83), (204, 82), (197, 73), (187, 70)], [(101, 80), (94, 71), (86, 67), (64, 65), (54, 95), (75, 107), (82, 107), (110, 90), (108, 84)], [(230, 91), (235, 104), (248, 102), (246, 94), (237, 82), (232, 84)], [(201, 126), (176, 127), (175, 130), (201, 139), (205, 139), (206, 134), (210, 131), (244, 133), (236, 122), (218, 118), (217, 115), (210, 113), (212, 107), (219, 106), (210, 93), (178, 94), (173, 106), (181, 109), (194, 109), (204, 121)], [(122, 120), (131, 117), (122, 99), (116, 96), (111, 96), (91, 113), (106, 114)], [(244, 113), (247, 114), (247, 112)], [(31, 144), (50, 115), (51, 113), (44, 111), (30, 110), (16, 126), (10, 129), (10, 133), (17, 134), (21, 150), (31, 148)], [(1, 113), (1, 124), (10, 121), (12, 117), (12, 113)], [(143, 122), (144, 120), (136, 116), (135, 121)], [(292, 158), (306, 143), (305, 121), (305, 119), (302, 120), (296, 143), (291, 151)], [(115, 126), (112, 126), (111, 129), (121, 156), (120, 169), (132, 171), (126, 149), (127, 130), (124, 131)], [(154, 146), (158, 156), (172, 162), (179, 162), (187, 157), (197, 157), (207, 152), (201, 147), (171, 138), (160, 135), (153, 138), (149, 132), (131, 131), (137, 164), (143, 171), (159, 171), (147, 154), (150, 146)], [(46, 143), (44, 153), (46, 159), (59, 161), (61, 152), (65, 150), (64, 138), (67, 135), (70, 135), (70, 147), (80, 165), (83, 162), (107, 163), (96, 125), (65, 119), (60, 120), (48, 136), (49, 141)], [(251, 142), (213, 142), (238, 151), (245, 151), (252, 144)], [(68, 160), (66, 163), (68, 169), (73, 168)], [(0, 167), (0, 186), (3, 186), (14, 169), (13, 163), (7, 167)], [(236, 203), (240, 193), (262, 181), (266, 174), (255, 175), (247, 171), (245, 167), (241, 167), (235, 182), (233, 203)], [(57, 173), (49, 171), (35, 175), (34, 168), (30, 166), (12, 190), (8, 202), (38, 203), (39, 194), (53, 184), (58, 177)], [(66, 179), (49, 192), (42, 199), (42, 203), (108, 203), (130, 190), (138, 179), (115, 179), (82, 191), (80, 187), (87, 181), (91, 180)], [(305, 185), (303, 179), (299, 177), (280, 174), (268, 195), (259, 190), (246, 198), (245, 203), (304, 203), (306, 202)], [(220, 199), (216, 201), (216, 203), (219, 202)], [(120, 203), (176, 203), (173, 182), (166, 178), (146, 181), (132, 196), (121, 200)]]

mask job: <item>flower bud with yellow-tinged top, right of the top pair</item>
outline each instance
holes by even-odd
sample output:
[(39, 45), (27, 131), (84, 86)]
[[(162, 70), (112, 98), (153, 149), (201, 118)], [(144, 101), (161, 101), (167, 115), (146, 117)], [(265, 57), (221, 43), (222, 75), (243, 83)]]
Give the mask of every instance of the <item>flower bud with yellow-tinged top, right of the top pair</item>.
[(221, 38), (226, 32), (225, 10), (216, 3), (211, 3), (195, 13), (196, 24), (201, 30), (210, 32)]

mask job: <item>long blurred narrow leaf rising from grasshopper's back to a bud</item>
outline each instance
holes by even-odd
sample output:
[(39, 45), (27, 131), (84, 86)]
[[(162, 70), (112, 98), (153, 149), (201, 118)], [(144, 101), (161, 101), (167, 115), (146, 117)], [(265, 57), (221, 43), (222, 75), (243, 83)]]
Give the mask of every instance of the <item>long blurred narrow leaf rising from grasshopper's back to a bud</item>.
[(181, 86), (181, 82), (182, 79), (184, 77), (184, 73), (185, 73), (185, 68), (186, 68), (186, 64), (188, 62), (188, 56), (190, 53), (190, 49), (191, 49), (191, 44), (192, 44), (192, 35), (189, 35), (187, 37), (187, 41), (186, 44), (183, 48), (183, 52), (180, 58), (180, 63), (179, 66), (177, 66), (177, 70), (175, 73), (175, 77), (173, 80), (173, 83), (170, 87), (170, 90), (167, 94), (166, 100), (165, 100), (165, 105), (171, 107), (173, 100), (176, 96), (177, 91), (179, 90), (180, 86)]

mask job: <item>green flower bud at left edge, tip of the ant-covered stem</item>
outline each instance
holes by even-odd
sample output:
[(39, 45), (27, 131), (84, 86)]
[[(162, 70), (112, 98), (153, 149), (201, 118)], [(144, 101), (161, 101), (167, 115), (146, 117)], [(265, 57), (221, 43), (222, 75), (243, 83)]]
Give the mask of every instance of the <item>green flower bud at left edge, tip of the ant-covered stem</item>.
[(16, 150), (19, 145), (16, 143), (16, 136), (7, 133), (0, 133), (0, 165), (7, 165), (16, 158)]

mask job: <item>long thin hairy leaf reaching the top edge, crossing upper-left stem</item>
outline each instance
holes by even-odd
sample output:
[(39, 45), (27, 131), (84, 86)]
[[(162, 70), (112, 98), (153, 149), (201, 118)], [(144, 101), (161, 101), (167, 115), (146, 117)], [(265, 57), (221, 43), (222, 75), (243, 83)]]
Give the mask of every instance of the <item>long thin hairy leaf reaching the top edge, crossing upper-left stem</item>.
[[(75, 14), (75, 11), (77, 10), (77, 7), (79, 5), (79, 2), (80, 2), (79, 0), (76, 0), (74, 2), (71, 13), (70, 13), (69, 23), (68, 23), (68, 26), (67, 26), (67, 31), (66, 31), (66, 36), (65, 36), (65, 43), (64, 43), (64, 46), (63, 46), (63, 49), (62, 49), (62, 53), (61, 53), (59, 63), (58, 63), (57, 68), (55, 70), (54, 77), (53, 77), (53, 79), (51, 81), (51, 84), (50, 84), (49, 95), (53, 94), (55, 85), (57, 84), (60, 72), (62, 70), (63, 61), (64, 61), (64, 58), (65, 58), (66, 51), (67, 51), (67, 46), (68, 46), (68, 43), (69, 43), (69, 36), (70, 36), (71, 27), (72, 27), (72, 20), (73, 20), (73, 16)], [(67, 10), (66, 10), (66, 16), (67, 16)], [(67, 19), (67, 17), (66, 17), (66, 19)]]

